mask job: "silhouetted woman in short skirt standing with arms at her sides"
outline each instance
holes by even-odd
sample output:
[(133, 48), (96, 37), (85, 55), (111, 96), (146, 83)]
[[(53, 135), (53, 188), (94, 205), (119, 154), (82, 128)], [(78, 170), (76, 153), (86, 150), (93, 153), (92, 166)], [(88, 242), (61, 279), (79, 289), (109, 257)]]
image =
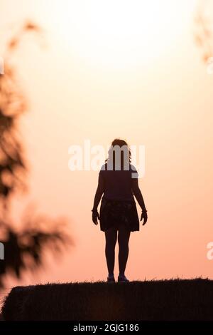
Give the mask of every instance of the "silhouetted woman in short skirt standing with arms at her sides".
[[(129, 237), (131, 232), (139, 230), (138, 213), (133, 196), (141, 207), (141, 220), (145, 225), (147, 210), (138, 187), (138, 173), (131, 165), (131, 151), (126, 141), (115, 139), (109, 148), (109, 157), (99, 172), (99, 182), (92, 208), (92, 221), (97, 225), (99, 220), (100, 229), (105, 232), (107, 282), (115, 282), (114, 249), (117, 240), (119, 242), (118, 282), (129, 282), (125, 276)], [(101, 198), (99, 215), (97, 207)]]

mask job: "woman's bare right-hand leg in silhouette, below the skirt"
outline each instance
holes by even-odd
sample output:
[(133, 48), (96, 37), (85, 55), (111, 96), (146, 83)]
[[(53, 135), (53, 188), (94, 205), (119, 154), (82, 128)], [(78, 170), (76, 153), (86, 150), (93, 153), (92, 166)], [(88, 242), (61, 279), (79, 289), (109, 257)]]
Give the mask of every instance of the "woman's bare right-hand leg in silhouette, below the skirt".
[(130, 231), (124, 226), (119, 227), (119, 275), (124, 276), (126, 262), (129, 255), (129, 237)]

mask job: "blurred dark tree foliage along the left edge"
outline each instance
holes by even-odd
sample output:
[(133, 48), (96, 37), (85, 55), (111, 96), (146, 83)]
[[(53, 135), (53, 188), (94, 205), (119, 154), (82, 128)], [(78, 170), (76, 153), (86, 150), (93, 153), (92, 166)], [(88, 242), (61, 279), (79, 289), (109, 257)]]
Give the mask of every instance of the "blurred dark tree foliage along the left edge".
[(9, 61), (26, 33), (40, 35), (42, 29), (31, 21), (21, 26), (7, 43), (4, 74), (0, 75), (0, 240), (4, 243), (5, 255), (0, 261), (0, 287), (4, 286), (6, 274), (20, 278), (24, 270), (40, 267), (44, 262), (45, 248), (58, 254), (62, 247), (73, 244), (65, 232), (65, 220), (36, 216), (29, 211), (17, 231), (9, 219), (13, 197), (16, 192), (27, 188), (28, 168), (18, 122), (27, 111), (28, 103), (16, 83), (16, 68)]

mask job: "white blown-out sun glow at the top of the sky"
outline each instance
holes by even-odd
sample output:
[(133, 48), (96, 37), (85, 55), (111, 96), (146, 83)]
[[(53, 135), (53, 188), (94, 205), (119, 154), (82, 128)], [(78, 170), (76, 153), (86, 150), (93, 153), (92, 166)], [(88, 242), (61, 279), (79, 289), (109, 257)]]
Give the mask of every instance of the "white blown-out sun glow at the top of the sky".
[(184, 6), (170, 0), (66, 0), (57, 30), (78, 57), (124, 67), (166, 52), (182, 29)]

